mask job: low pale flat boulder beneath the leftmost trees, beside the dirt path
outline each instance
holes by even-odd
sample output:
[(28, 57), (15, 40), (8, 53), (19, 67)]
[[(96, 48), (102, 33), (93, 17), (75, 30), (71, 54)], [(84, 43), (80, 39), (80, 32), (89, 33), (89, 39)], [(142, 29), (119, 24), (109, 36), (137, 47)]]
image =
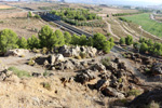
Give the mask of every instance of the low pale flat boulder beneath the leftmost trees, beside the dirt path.
[(27, 53), (29, 53), (28, 50), (24, 50), (24, 49), (15, 49), (15, 50), (9, 50), (4, 56), (21, 56), (21, 55), (26, 55)]

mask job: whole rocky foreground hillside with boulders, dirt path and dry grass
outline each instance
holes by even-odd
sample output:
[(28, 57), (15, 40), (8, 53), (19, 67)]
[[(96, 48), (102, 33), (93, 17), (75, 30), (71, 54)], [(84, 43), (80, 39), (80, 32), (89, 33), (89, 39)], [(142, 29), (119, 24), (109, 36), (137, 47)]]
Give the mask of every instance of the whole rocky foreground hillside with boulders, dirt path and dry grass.
[(55, 52), (17, 49), (1, 57), (1, 108), (141, 108), (152, 102), (160, 106), (161, 84), (149, 85), (137, 76), (137, 67), (127, 65), (134, 64), (129, 54), (123, 58), (116, 52), (67, 45)]

